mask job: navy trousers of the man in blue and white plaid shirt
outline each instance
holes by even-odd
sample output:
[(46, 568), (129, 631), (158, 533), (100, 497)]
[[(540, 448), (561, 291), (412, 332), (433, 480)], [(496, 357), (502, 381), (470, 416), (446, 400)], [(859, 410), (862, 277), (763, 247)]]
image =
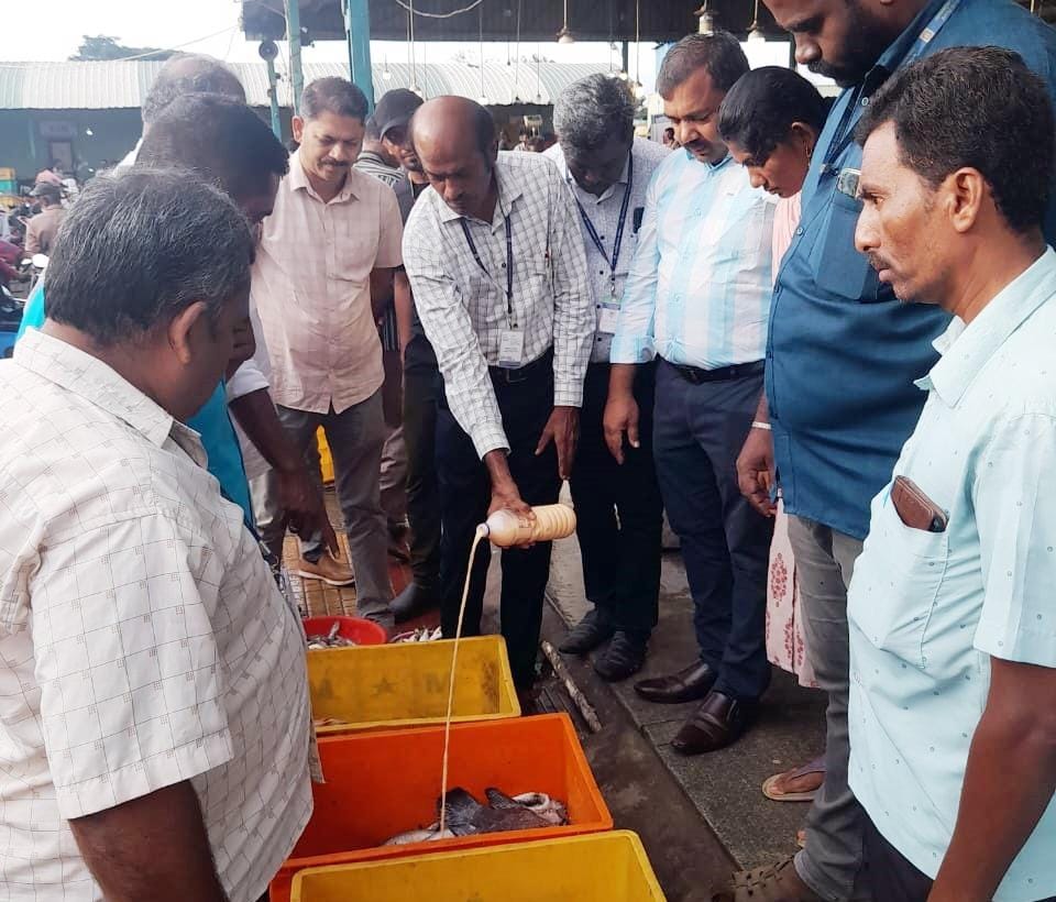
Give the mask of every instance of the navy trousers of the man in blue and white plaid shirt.
[(770, 683), (767, 570), (773, 521), (737, 487), (740, 453), (762, 374), (700, 385), (657, 369), (653, 458), (671, 528), (682, 541), (701, 660), (715, 690), (758, 698)]

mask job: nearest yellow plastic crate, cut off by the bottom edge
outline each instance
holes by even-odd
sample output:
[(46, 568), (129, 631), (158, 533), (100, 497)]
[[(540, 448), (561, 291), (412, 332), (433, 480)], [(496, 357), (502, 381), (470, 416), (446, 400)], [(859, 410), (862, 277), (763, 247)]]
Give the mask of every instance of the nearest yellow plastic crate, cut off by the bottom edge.
[(391, 861), (309, 868), (292, 902), (663, 902), (641, 840), (600, 833)]

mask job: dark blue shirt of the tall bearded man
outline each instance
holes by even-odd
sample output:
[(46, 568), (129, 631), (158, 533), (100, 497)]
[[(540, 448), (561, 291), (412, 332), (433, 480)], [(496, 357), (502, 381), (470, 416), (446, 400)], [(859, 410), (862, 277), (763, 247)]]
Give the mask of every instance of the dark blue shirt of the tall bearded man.
[[(928, 3), (880, 58), (866, 78), (866, 97), (904, 64), (942, 4)], [(921, 56), (978, 44), (1016, 51), (1054, 89), (1056, 31), (1011, 0), (961, 0)], [(833, 152), (845, 110), (857, 105), (856, 122), (861, 100), (845, 91), (818, 139), (800, 228), (774, 289), (767, 348), (785, 508), (856, 538), (866, 535), (869, 499), (890, 477), (920, 416), (923, 396), (913, 381), (934, 364), (932, 342), (949, 321), (937, 308), (898, 301), (855, 250), (861, 204), (837, 191), (836, 180), (843, 168), (860, 168), (861, 148), (851, 141)]]

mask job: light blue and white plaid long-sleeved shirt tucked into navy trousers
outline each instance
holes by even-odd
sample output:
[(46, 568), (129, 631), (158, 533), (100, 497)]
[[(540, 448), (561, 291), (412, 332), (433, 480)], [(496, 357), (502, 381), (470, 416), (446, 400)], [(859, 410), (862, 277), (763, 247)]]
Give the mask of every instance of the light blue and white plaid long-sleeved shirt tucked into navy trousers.
[(777, 199), (727, 156), (675, 151), (646, 193), (609, 360), (717, 370), (762, 360)]

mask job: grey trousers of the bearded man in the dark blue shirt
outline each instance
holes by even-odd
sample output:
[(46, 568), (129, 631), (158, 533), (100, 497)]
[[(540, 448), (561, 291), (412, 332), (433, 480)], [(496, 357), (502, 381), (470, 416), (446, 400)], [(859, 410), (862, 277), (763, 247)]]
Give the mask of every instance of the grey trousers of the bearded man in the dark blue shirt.
[(864, 869), (868, 817), (847, 785), (847, 586), (861, 541), (802, 517), (789, 517), (789, 540), (806, 654), (817, 684), (828, 694), (825, 782), (806, 815), (806, 848), (796, 855), (795, 870), (814, 892), (832, 902), (868, 900)]

